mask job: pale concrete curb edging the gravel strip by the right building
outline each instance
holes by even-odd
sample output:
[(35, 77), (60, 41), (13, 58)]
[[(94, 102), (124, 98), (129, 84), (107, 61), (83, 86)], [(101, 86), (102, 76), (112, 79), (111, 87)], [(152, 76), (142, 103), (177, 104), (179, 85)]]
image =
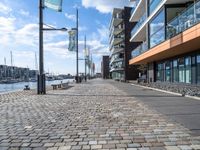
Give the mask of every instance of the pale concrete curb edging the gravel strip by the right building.
[[(168, 93), (168, 94), (172, 94), (172, 95), (182, 96), (182, 94), (180, 94), (180, 93), (170, 92), (170, 91), (161, 90), (161, 89), (157, 89), (157, 88), (152, 88), (152, 87), (148, 87), (148, 86), (138, 85), (138, 84), (134, 84), (134, 83), (131, 83), (131, 85), (142, 87), (142, 88), (146, 88), (146, 89), (151, 89), (151, 90), (158, 91), (158, 92), (164, 92), (164, 93)], [(200, 97), (190, 96), (190, 95), (185, 95), (184, 97), (200, 101)]]

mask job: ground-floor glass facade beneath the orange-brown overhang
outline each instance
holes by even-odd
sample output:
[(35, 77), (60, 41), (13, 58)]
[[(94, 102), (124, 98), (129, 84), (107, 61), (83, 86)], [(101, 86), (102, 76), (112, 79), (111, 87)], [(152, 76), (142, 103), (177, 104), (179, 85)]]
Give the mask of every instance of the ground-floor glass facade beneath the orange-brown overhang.
[(157, 63), (156, 81), (200, 84), (200, 54)]

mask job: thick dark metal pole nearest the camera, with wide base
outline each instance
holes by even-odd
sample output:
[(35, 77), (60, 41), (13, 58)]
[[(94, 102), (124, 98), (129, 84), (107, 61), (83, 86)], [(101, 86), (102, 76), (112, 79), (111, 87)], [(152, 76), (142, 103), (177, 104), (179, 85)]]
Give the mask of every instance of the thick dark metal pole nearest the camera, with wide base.
[(43, 0), (39, 0), (39, 75), (38, 94), (46, 94), (43, 62)]

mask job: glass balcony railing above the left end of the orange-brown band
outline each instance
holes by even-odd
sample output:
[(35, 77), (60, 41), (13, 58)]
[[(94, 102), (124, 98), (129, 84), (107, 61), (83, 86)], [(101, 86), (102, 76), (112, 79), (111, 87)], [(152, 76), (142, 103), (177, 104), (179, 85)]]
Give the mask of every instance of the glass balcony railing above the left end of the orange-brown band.
[(135, 48), (132, 51), (131, 56), (132, 56), (132, 58), (135, 58), (135, 57), (141, 55), (142, 53), (146, 52), (147, 50), (148, 50), (148, 43), (143, 42), (141, 45), (139, 45), (137, 48)]

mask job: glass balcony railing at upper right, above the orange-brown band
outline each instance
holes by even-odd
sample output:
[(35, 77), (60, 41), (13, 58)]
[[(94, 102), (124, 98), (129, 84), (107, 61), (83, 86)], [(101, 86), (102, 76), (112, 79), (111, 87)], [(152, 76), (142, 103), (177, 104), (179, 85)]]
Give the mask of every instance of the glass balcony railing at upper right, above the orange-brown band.
[(167, 39), (170, 39), (200, 22), (200, 1), (185, 9), (167, 24)]

